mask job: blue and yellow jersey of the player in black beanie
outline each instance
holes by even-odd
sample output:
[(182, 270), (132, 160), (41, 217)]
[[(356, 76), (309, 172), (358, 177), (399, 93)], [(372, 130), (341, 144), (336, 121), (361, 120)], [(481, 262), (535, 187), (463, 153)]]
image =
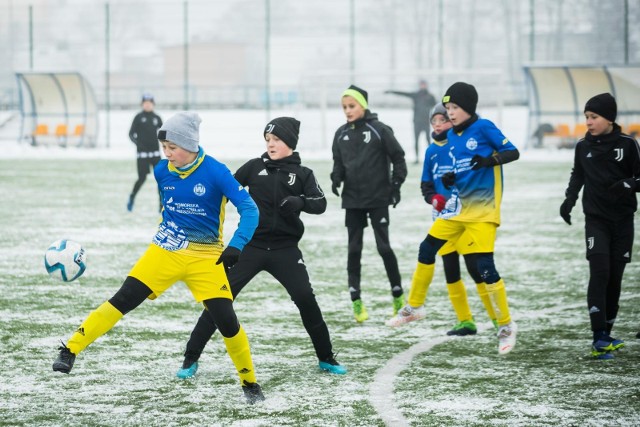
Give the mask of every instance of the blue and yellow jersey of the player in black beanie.
[(502, 201), (502, 166), (471, 170), (471, 158), (475, 155), (489, 157), (495, 152), (515, 150), (493, 122), (478, 119), (463, 131), (447, 133), (450, 164), (456, 173), (452, 199), (458, 213), (452, 218), (466, 222), (493, 222), (500, 224)]

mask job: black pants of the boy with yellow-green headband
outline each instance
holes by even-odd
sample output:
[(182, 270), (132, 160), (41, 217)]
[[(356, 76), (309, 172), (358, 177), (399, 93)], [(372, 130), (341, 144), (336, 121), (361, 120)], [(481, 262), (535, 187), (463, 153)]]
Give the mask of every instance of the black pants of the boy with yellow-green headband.
[(391, 295), (402, 295), (402, 279), (400, 269), (391, 243), (389, 242), (389, 208), (347, 209), (345, 225), (349, 234), (349, 248), (347, 254), (347, 278), (351, 301), (360, 299), (361, 259), (364, 229), (367, 227), (367, 216), (371, 220), (371, 228), (376, 239), (376, 248), (382, 257), (387, 272)]

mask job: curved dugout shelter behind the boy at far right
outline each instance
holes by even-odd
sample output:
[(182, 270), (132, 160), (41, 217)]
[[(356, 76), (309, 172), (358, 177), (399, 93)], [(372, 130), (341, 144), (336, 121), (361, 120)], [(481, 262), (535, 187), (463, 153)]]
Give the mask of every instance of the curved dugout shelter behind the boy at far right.
[(525, 66), (528, 81), (528, 146), (573, 147), (587, 127), (584, 105), (594, 95), (616, 98), (616, 122), (640, 134), (640, 66)]

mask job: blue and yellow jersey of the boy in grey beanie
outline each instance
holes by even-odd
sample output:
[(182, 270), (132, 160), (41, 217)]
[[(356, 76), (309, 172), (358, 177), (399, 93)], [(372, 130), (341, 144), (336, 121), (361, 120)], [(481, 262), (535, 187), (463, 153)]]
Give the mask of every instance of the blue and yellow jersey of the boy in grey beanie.
[[(186, 170), (178, 170), (164, 159), (155, 167), (154, 174), (163, 211), (153, 243), (169, 251), (200, 257), (219, 255), (224, 248), (222, 230), (227, 200), (236, 207), (243, 202), (251, 202), (255, 207), (229, 169), (205, 155), (202, 149), (196, 162)], [(251, 239), (257, 216), (253, 227), (241, 225), (229, 243), (240, 250)]]

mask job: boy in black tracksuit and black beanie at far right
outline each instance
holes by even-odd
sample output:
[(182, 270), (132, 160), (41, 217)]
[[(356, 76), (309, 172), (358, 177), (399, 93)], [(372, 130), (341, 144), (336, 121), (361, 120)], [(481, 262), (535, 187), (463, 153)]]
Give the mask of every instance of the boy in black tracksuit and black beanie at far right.
[(616, 101), (596, 95), (585, 108), (588, 132), (578, 141), (560, 215), (571, 224), (571, 209), (582, 194), (589, 286), (587, 305), (593, 331), (592, 355), (612, 359), (624, 341), (611, 337), (618, 314), (622, 275), (631, 261), (633, 215), (640, 191), (640, 149), (615, 123)]

